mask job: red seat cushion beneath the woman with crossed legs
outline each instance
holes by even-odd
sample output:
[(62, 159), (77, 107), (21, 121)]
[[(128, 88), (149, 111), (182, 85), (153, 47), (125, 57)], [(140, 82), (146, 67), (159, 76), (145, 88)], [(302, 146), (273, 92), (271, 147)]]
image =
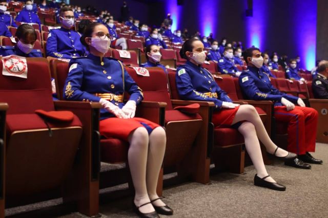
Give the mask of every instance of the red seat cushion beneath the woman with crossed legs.
[(215, 128), (214, 146), (227, 146), (244, 143), (243, 136), (234, 128)]

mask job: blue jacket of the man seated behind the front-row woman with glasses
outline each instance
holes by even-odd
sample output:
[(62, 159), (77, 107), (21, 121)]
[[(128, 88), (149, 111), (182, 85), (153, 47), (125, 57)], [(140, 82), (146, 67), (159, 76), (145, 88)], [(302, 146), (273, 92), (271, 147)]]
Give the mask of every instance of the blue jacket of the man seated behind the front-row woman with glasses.
[(63, 27), (50, 30), (47, 39), (47, 56), (71, 59), (85, 56), (86, 48), (80, 42), (80, 35)]

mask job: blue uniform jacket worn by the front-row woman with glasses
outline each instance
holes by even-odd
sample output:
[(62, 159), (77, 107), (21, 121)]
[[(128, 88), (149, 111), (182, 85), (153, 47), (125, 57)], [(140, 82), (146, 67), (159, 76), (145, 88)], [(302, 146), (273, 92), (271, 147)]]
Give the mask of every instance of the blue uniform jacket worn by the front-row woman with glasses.
[[(64, 86), (64, 99), (99, 102), (105, 98), (122, 108), (123, 94), (128, 92), (130, 100), (137, 104), (143, 93), (133, 81), (122, 63), (114, 58), (103, 58), (89, 54), (87, 57), (71, 59), (69, 73)], [(124, 78), (124, 79), (123, 79)], [(115, 117), (107, 110), (100, 110), (100, 119)]]

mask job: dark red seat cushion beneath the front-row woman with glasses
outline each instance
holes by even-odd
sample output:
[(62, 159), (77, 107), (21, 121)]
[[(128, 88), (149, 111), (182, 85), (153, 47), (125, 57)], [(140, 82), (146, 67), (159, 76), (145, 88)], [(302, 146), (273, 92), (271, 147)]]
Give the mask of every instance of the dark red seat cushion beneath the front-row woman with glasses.
[(120, 163), (128, 160), (129, 143), (120, 139), (108, 138), (100, 140), (101, 161)]

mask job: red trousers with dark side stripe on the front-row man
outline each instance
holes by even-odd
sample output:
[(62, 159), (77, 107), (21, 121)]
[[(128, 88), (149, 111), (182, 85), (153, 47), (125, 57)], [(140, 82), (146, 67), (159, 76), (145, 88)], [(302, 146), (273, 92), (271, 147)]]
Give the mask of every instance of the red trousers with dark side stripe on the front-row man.
[(275, 118), (278, 122), (288, 123), (288, 151), (297, 155), (315, 151), (318, 124), (316, 110), (295, 106), (294, 110), (287, 111), (286, 106), (275, 106)]

